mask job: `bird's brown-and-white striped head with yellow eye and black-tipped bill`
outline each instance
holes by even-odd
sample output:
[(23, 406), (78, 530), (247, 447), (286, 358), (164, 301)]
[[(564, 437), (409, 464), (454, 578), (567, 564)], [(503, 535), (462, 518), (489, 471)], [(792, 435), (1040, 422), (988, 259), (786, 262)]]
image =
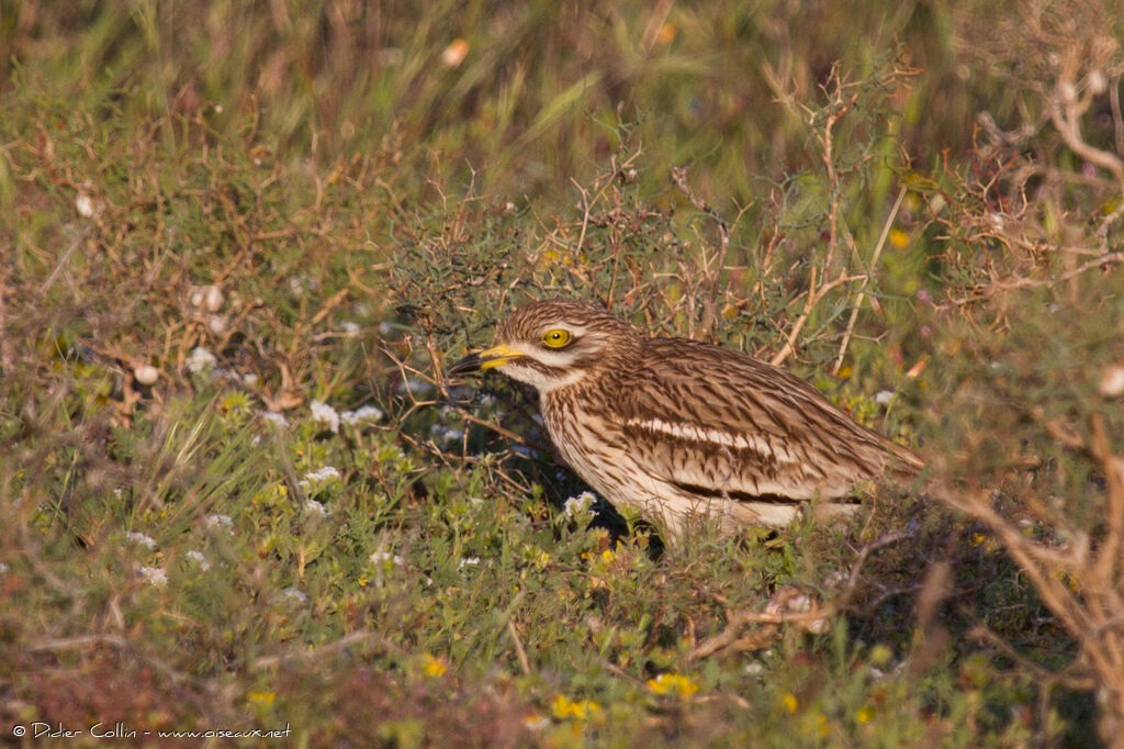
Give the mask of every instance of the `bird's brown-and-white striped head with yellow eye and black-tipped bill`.
[(496, 345), (469, 354), (448, 372), (497, 368), (547, 392), (618, 369), (637, 349), (633, 330), (602, 307), (545, 299), (517, 309), (500, 324)]

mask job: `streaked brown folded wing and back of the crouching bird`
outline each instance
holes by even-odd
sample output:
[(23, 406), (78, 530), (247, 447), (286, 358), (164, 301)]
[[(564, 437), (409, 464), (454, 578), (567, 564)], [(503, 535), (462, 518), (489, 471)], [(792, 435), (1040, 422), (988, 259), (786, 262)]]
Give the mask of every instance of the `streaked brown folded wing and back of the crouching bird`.
[(791, 372), (685, 339), (643, 342), (622, 388), (619, 426), (635, 460), (699, 496), (791, 504), (851, 495), (912, 451), (855, 423)]

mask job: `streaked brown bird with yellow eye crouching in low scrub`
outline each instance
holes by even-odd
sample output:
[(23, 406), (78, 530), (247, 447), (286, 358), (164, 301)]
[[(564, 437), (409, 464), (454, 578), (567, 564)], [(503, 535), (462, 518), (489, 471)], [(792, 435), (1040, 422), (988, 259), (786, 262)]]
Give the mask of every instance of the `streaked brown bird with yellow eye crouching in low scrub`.
[(499, 324), (495, 345), (448, 373), (489, 369), (535, 388), (565, 463), (671, 541), (697, 520), (785, 526), (809, 503), (816, 516), (849, 516), (858, 486), (924, 467), (786, 369), (646, 337), (595, 303), (531, 301)]

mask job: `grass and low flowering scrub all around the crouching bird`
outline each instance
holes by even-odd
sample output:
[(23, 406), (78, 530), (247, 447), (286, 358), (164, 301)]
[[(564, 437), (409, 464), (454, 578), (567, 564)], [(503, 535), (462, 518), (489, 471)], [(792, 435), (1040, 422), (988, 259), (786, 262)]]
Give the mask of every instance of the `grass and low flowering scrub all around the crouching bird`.
[[(1066, 554), (1124, 427), (1121, 16), (868, 10), (6, 4), (4, 736), (1096, 741), (1118, 685), (984, 521), (660, 553), (439, 377), (544, 295), (783, 359), (1114, 611)], [(745, 619), (789, 590), (844, 611)]]

